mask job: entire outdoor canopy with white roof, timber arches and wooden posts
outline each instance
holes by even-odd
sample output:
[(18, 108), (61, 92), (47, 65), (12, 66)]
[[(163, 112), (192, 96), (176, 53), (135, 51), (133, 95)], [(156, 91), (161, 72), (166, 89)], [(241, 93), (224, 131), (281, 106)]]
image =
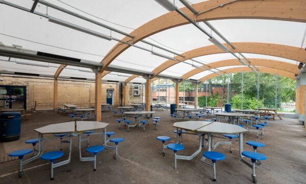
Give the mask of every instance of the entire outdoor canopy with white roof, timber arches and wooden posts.
[[(102, 79), (146, 83), (148, 110), (151, 80), (156, 78), (175, 81), (178, 105), (179, 84), (185, 80), (204, 82), (242, 71), (291, 79), (300, 75), (298, 64), (306, 62), (305, 1), (174, 3), (0, 0), (0, 15), (5, 17), (0, 28), (0, 72), (53, 76), (54, 108), (59, 77), (94, 79), (97, 121)], [(42, 63), (41, 58), (25, 58), (24, 49), (61, 58)], [(85, 60), (87, 65), (73, 64), (62, 56)], [(296, 94), (297, 99), (305, 99), (304, 84)], [(296, 101), (300, 114), (304, 104), (304, 100)]]

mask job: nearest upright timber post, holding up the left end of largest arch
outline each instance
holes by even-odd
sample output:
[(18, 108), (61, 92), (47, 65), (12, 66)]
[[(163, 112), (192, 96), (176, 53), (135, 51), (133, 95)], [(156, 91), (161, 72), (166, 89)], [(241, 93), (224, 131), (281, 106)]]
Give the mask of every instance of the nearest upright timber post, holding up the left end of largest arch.
[(94, 113), (96, 115), (96, 121), (101, 121), (101, 90), (102, 90), (102, 73), (95, 74), (95, 98), (94, 98)]

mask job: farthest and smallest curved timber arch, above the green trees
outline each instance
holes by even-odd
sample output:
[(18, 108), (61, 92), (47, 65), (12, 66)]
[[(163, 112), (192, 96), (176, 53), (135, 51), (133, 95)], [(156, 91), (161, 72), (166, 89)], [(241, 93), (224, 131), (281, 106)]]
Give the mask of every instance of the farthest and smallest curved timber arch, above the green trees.
[[(287, 78), (290, 78), (290, 79), (293, 79), (295, 80), (295, 76), (294, 74), (292, 73), (289, 73), (289, 72), (286, 72), (286, 71), (279, 71), (279, 70), (276, 70), (276, 69), (273, 69), (273, 68), (267, 68), (267, 67), (258, 67), (258, 69), (260, 70), (260, 73), (267, 73), (267, 74), (277, 74), (279, 76), (283, 76), (283, 77), (287, 77)], [(251, 68), (249, 67), (235, 67), (235, 68), (230, 68), (230, 69), (226, 69), (224, 70), (224, 72), (226, 72), (226, 74), (228, 73), (238, 73), (238, 72), (252, 72), (251, 71)], [(214, 77), (218, 77), (219, 75), (218, 74), (210, 74), (210, 75), (207, 75), (203, 78), (200, 79), (201, 82), (205, 82), (206, 80), (209, 80), (209, 79), (212, 79)]]

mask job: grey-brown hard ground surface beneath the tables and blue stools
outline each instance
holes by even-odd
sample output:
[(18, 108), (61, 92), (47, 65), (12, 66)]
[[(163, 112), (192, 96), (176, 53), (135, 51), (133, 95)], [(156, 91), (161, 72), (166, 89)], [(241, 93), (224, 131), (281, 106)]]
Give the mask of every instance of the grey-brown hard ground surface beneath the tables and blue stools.
[[(221, 145), (215, 151), (225, 155), (224, 160), (217, 161), (217, 182), (213, 182), (213, 169), (200, 163), (202, 154), (192, 160), (177, 160), (174, 167), (174, 153), (166, 150), (166, 158), (162, 156), (162, 143), (156, 140), (159, 135), (168, 135), (174, 143), (176, 140), (172, 127), (173, 122), (168, 115), (169, 110), (156, 110), (155, 116), (161, 117), (158, 130), (155, 125), (146, 125), (145, 132), (141, 127), (126, 127), (118, 130), (118, 123), (113, 112), (104, 112), (102, 121), (109, 123), (107, 131), (116, 132), (111, 137), (123, 137), (119, 143), (119, 155), (114, 159), (115, 151), (105, 149), (97, 155), (97, 171), (93, 172), (93, 162), (81, 162), (78, 152), (78, 138), (73, 137), (71, 162), (54, 169), (54, 181), (50, 181), (50, 165), (46, 160), (37, 159), (23, 167), (23, 177), (18, 178), (19, 160), (0, 164), (0, 183), (252, 183), (252, 170), (239, 160), (239, 142), (234, 142), (233, 153), (229, 147)], [(205, 119), (211, 119), (212, 116)], [(5, 155), (14, 150), (32, 148), (24, 141), (37, 137), (33, 129), (48, 124), (69, 121), (68, 116), (54, 111), (37, 111), (22, 120), (20, 140), (0, 143), (0, 154)], [(134, 120), (132, 118), (131, 120)], [(180, 120), (182, 121), (182, 120)], [(221, 122), (226, 122), (222, 120)], [(262, 165), (257, 166), (258, 183), (306, 183), (306, 132), (297, 119), (275, 118), (268, 121), (265, 136), (256, 138), (254, 132), (244, 133), (244, 141), (258, 141), (266, 145), (258, 152), (267, 156)], [(44, 137), (53, 137), (45, 135)], [(101, 145), (101, 135), (91, 135), (90, 145)], [(216, 142), (218, 139), (216, 139)], [(113, 143), (111, 143), (113, 145)], [(180, 155), (191, 155), (198, 148), (198, 137), (185, 134), (184, 150)], [(44, 152), (59, 150), (59, 140), (44, 141)], [(82, 156), (91, 156), (85, 151), (86, 143), (82, 143)], [(203, 148), (201, 153), (206, 151)], [(244, 151), (253, 151), (251, 146), (244, 144)], [(64, 160), (69, 153), (68, 144), (63, 144)], [(28, 158), (29, 156), (25, 156)]]

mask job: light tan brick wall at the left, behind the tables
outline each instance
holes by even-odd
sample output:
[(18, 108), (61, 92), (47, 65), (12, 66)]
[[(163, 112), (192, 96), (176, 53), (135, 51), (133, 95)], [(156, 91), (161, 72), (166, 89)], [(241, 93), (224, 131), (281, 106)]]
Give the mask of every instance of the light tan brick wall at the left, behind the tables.
[[(54, 80), (40, 77), (1, 76), (0, 85), (27, 86), (27, 110), (52, 109)], [(102, 103), (106, 103), (106, 90), (113, 89), (113, 105), (120, 105), (120, 83), (102, 83)], [(94, 81), (58, 80), (58, 104), (75, 104), (79, 107), (94, 106)], [(59, 106), (61, 107), (61, 106)]]

